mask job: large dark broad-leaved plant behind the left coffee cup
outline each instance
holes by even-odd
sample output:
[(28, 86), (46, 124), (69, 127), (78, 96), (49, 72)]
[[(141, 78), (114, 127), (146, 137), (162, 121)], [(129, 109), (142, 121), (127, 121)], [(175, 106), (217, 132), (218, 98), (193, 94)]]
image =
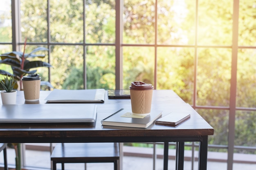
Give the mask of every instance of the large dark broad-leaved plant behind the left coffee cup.
[[(12, 52), (7, 52), (4, 54), (1, 54), (1, 60), (0, 63), (2, 64), (7, 64), (7, 65), (11, 65), (11, 69), (13, 71), (13, 74), (6, 72), (4, 70), (0, 70), (0, 74), (2, 75), (13, 75), (14, 78), (18, 81), (20, 81), (20, 88), (22, 89), (22, 83), (21, 83), (21, 78), (27, 74), (34, 74), (36, 73), (37, 70), (31, 70), (31, 69), (35, 69), (38, 67), (52, 67), (52, 65), (50, 65), (49, 63), (46, 63), (44, 61), (30, 61), (29, 59), (31, 58), (44, 58), (45, 54), (37, 54), (37, 52), (39, 51), (47, 51), (47, 48), (44, 47), (38, 47), (34, 50), (32, 50), (32, 52), (30, 53), (25, 53), (25, 49), (26, 49), (26, 42), (27, 39), (25, 40), (25, 44), (24, 44), (24, 50), (23, 52), (18, 52), (18, 51), (12, 51)], [(47, 82), (47, 81), (42, 81), (41, 82), (42, 85), (47, 85), (48, 87), (52, 87), (52, 85)]]

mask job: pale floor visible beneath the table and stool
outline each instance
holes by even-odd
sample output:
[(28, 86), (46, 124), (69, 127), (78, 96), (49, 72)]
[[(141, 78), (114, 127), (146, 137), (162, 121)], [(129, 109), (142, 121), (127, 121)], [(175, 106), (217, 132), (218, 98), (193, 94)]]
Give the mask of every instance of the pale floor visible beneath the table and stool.
[[(14, 164), (14, 152), (11, 149), (7, 150), (8, 164)], [(0, 153), (0, 163), (3, 161), (2, 153)], [(45, 170), (49, 170), (51, 166), (50, 154), (47, 151), (26, 151), (26, 160), (28, 166), (38, 166)], [(208, 162), (207, 170), (227, 170), (227, 163)], [(60, 166), (59, 166), (60, 168)], [(32, 169), (32, 168), (31, 168)], [(34, 168), (33, 168), (34, 169)], [(153, 170), (153, 159), (143, 157), (128, 157), (123, 158), (123, 170)], [(163, 160), (157, 159), (155, 170), (163, 169)], [(197, 168), (197, 163), (194, 165), (194, 170)], [(67, 163), (65, 170), (84, 170), (83, 163)], [(87, 170), (113, 170), (113, 163), (88, 163)], [(175, 170), (175, 161), (168, 161), (168, 170)], [(185, 161), (184, 170), (191, 170), (191, 162)], [(256, 164), (234, 163), (233, 170), (256, 170)]]

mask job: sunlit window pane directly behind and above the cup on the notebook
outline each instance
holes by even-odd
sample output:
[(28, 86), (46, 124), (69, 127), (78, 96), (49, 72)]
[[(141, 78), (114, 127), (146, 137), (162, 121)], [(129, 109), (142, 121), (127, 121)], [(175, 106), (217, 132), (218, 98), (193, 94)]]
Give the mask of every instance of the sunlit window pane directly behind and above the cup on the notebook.
[(123, 88), (129, 89), (132, 81), (154, 85), (154, 48), (123, 47)]

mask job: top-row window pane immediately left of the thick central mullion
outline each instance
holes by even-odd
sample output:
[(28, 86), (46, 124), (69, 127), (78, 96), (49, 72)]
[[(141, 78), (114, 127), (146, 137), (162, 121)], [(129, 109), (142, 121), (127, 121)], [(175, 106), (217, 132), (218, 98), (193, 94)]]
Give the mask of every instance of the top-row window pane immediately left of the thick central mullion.
[(115, 0), (86, 0), (85, 39), (86, 43), (115, 43)]

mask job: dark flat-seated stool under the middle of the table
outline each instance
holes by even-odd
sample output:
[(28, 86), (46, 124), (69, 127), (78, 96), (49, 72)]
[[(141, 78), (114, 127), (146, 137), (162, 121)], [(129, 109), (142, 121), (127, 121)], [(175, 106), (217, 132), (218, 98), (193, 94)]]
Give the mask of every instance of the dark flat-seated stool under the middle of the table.
[(99, 163), (113, 162), (114, 170), (117, 170), (119, 160), (118, 143), (63, 143), (57, 144), (52, 152), (51, 160), (53, 170), (56, 163)]

